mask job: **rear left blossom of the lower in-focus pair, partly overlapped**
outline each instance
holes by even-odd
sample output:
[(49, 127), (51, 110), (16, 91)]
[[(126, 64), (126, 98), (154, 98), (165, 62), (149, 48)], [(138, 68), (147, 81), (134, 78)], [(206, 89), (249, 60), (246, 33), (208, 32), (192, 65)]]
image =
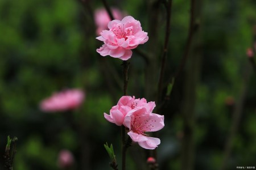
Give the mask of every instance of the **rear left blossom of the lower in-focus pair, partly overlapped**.
[(135, 99), (135, 97), (131, 96), (122, 96), (117, 105), (110, 109), (110, 114), (104, 113), (104, 117), (109, 122), (112, 122), (118, 126), (123, 124), (123, 120), (125, 119), (126, 114), (131, 111), (131, 109), (137, 107), (145, 107), (148, 112), (152, 112), (155, 108), (155, 102), (148, 102), (146, 99)]

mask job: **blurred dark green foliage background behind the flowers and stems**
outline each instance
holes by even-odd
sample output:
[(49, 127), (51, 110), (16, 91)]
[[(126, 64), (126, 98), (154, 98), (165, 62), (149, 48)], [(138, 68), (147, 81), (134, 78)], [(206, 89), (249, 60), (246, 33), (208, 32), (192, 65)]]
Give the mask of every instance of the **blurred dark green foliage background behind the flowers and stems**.
[[(166, 28), (166, 9), (156, 2), (108, 1), (148, 32), (148, 42), (138, 46), (144, 55), (133, 52), (129, 60), (128, 85), (129, 95), (147, 101), (156, 101)], [(73, 154), (73, 169), (111, 169), (106, 142), (121, 169), (120, 129), (103, 113), (122, 96), (122, 61), (96, 52), (102, 42), (94, 11), (102, 7), (90, 0), (0, 0), (0, 155), (7, 136), (18, 137), (14, 170), (61, 169), (61, 150)], [(185, 52), (190, 17), (189, 1), (172, 2), (164, 104), (157, 110), (165, 116), (156, 134), (159, 169), (255, 167), (256, 74), (246, 50), (255, 54), (256, 1), (196, 1), (195, 8), (187, 65), (166, 96)], [(40, 110), (43, 99), (67, 88), (84, 90), (80, 108)], [(148, 169), (151, 154), (130, 147), (127, 169)]]

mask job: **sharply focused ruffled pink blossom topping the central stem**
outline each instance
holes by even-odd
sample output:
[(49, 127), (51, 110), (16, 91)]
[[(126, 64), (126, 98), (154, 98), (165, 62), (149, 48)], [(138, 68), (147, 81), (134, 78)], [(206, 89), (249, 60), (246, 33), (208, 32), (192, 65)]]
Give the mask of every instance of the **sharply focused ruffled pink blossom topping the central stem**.
[(111, 56), (122, 60), (131, 58), (131, 49), (148, 40), (147, 32), (142, 31), (141, 23), (132, 16), (120, 20), (112, 20), (108, 24), (109, 30), (101, 32), (96, 39), (104, 45), (97, 49), (101, 56)]

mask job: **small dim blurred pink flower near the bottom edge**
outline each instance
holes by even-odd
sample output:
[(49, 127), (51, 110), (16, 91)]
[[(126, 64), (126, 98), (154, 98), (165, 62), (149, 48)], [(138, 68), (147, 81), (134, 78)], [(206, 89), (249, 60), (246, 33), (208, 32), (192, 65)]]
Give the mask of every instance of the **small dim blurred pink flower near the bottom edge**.
[(69, 150), (61, 150), (59, 152), (59, 158), (57, 164), (60, 168), (69, 168), (74, 164), (74, 157)]

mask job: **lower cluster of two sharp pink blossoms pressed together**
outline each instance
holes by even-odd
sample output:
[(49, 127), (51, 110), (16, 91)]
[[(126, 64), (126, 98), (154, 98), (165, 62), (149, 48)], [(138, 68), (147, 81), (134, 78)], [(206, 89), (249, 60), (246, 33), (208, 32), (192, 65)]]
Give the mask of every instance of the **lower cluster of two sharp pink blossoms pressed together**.
[(159, 138), (148, 137), (146, 132), (158, 131), (164, 127), (164, 116), (152, 113), (155, 102), (146, 99), (135, 99), (122, 96), (117, 105), (110, 109), (110, 114), (104, 113), (109, 122), (118, 126), (124, 125), (134, 142), (146, 149), (155, 149), (160, 144)]

